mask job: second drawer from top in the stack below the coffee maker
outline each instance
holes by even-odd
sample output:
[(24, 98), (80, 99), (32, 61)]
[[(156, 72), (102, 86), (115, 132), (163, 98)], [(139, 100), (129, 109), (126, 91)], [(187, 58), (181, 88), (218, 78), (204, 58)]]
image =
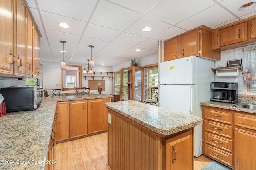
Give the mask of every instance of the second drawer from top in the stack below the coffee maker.
[(232, 126), (216, 123), (213, 121), (204, 121), (204, 128), (206, 131), (222, 135), (224, 137), (232, 138)]

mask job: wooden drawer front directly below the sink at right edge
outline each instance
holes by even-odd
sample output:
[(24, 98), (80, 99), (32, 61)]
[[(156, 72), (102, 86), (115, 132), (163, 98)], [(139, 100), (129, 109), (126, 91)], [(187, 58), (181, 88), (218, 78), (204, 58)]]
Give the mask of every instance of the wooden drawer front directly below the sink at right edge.
[(235, 113), (234, 119), (236, 126), (256, 130), (256, 115)]

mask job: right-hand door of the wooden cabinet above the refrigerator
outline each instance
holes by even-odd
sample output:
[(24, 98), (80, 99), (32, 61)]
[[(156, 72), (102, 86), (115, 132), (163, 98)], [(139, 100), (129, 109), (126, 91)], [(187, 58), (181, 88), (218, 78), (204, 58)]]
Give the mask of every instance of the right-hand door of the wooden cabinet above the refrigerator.
[(190, 31), (180, 37), (181, 57), (199, 56), (199, 29)]

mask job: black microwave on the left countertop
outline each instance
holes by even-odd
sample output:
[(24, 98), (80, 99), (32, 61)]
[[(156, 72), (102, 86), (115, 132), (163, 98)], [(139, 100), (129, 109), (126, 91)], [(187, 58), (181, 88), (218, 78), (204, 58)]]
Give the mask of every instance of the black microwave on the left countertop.
[(42, 87), (5, 87), (0, 89), (6, 112), (33, 111), (42, 103)]

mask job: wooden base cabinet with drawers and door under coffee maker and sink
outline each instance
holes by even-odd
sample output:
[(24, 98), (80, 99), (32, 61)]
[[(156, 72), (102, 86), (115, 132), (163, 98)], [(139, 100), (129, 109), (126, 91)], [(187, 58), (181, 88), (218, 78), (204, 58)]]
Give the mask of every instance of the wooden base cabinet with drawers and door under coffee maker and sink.
[(203, 154), (234, 170), (256, 169), (256, 115), (203, 106)]

